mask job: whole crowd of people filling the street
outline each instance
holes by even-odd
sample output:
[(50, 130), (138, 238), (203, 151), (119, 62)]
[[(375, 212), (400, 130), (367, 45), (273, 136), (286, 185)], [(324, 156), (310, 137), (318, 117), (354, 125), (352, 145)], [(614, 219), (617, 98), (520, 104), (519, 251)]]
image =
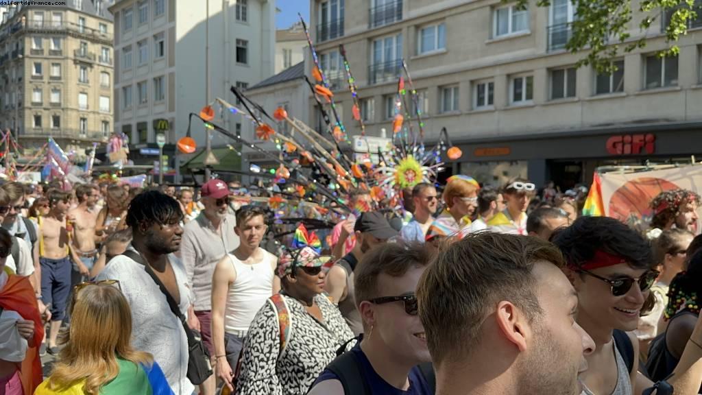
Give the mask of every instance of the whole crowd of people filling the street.
[(317, 235), (237, 181), (4, 183), (0, 394), (698, 394), (700, 197), (586, 193), (352, 189)]

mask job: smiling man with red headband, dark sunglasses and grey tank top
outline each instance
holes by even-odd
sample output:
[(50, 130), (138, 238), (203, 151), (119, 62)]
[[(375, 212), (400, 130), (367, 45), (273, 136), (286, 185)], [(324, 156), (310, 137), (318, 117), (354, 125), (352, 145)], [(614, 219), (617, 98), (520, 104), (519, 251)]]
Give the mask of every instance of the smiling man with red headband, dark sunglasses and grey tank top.
[[(581, 373), (583, 393), (642, 394), (654, 383), (637, 374), (639, 342), (633, 330), (650, 311), (650, 294), (658, 272), (649, 242), (625, 224), (602, 216), (585, 216), (553, 240), (566, 261), (564, 269), (578, 294), (576, 321), (595, 342)], [(697, 394), (702, 383), (702, 322), (697, 320), (687, 347), (668, 379), (675, 394)]]

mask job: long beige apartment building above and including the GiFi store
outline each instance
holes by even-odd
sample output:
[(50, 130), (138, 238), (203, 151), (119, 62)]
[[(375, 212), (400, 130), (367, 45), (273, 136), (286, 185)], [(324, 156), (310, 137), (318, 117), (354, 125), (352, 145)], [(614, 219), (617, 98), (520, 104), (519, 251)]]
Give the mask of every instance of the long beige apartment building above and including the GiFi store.
[(527, 10), (501, 0), (312, 0), (310, 7), (347, 130), (359, 133), (339, 44), (371, 136), (391, 129), (404, 59), (426, 142), (445, 127), (463, 150), (449, 173), (494, 184), (515, 175), (539, 184), (555, 179), (569, 188), (589, 182), (600, 165), (689, 161), (701, 153), (702, 13), (677, 43), (680, 55), (665, 59), (656, 56), (667, 45), (661, 18), (641, 32), (644, 15), (634, 13), (631, 40), (646, 34), (647, 46), (621, 53), (613, 75), (597, 75), (575, 67), (584, 53), (564, 49), (574, 20), (568, 0), (548, 8), (531, 1)]

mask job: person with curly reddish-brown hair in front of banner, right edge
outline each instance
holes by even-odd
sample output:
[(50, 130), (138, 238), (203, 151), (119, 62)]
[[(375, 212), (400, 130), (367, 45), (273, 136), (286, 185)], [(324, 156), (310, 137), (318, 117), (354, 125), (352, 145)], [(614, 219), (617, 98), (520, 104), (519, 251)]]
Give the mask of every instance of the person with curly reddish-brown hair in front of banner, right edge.
[(700, 196), (691, 190), (673, 189), (661, 192), (651, 200), (653, 218), (651, 229), (647, 232), (649, 239), (658, 238), (661, 232), (670, 228), (684, 229), (697, 233), (697, 207)]

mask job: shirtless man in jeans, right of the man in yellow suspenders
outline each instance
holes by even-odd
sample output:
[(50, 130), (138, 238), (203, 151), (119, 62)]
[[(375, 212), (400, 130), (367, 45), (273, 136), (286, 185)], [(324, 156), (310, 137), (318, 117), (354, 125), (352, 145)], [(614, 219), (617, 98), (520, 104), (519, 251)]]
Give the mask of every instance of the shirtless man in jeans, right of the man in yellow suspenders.
[(73, 225), (73, 247), (80, 258), (77, 261), (77, 271), (86, 280), (98, 254), (95, 247), (98, 213), (94, 211), (98, 196), (93, 186), (81, 184), (76, 187), (76, 197), (78, 207), (68, 212), (68, 220)]

